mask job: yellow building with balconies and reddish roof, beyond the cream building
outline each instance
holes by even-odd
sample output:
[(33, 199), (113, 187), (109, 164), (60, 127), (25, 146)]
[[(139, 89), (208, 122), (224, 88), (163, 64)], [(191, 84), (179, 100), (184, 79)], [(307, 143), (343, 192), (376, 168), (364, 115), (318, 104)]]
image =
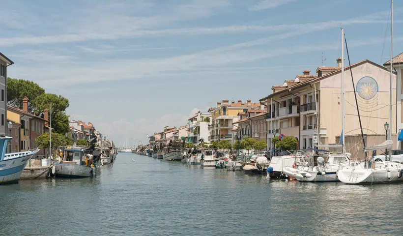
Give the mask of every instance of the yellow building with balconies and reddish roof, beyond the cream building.
[(217, 107), (210, 108), (208, 112), (211, 114), (211, 124), (208, 126), (210, 135), (208, 140), (210, 142), (219, 140), (229, 140), (233, 142), (232, 134), (235, 128), (233, 123), (239, 120), (238, 114), (240, 112), (247, 112), (249, 109), (259, 109), (261, 104), (254, 103), (250, 99), (247, 102), (238, 100), (237, 102), (228, 99), (217, 102)]

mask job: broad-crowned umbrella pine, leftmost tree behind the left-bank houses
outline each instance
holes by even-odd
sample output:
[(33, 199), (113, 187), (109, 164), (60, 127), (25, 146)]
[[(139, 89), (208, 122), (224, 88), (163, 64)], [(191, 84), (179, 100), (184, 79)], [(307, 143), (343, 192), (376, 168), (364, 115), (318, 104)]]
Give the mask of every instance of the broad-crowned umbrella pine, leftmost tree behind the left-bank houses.
[(23, 98), (28, 97), (28, 111), (32, 111), (32, 103), (39, 95), (45, 93), (38, 84), (24, 79), (7, 78), (7, 104), (22, 108)]

